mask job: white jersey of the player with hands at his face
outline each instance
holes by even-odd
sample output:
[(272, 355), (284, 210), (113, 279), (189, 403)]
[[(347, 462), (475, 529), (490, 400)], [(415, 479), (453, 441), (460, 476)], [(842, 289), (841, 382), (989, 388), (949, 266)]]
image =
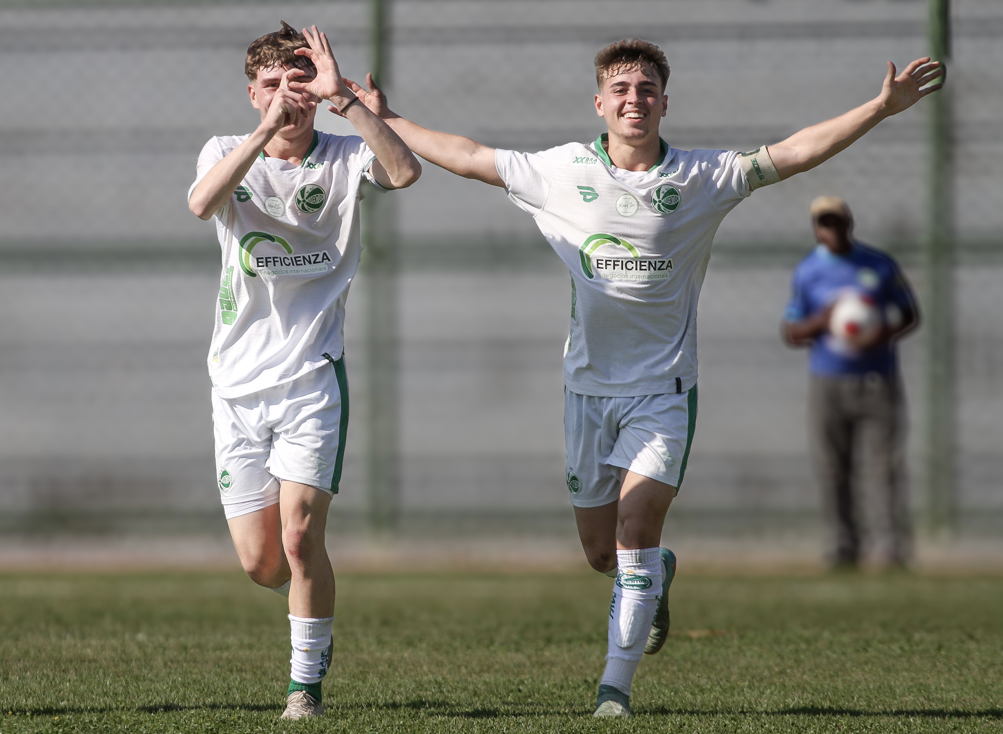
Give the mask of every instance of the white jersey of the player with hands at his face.
[[(189, 196), (247, 139), (214, 137)], [(236, 398), (330, 366), (344, 348), (348, 288), (359, 265), (359, 187), (376, 183), (361, 137), (314, 132), (302, 165), (259, 155), (216, 214), (223, 277), (209, 372)], [(376, 183), (376, 186), (379, 186)]]

